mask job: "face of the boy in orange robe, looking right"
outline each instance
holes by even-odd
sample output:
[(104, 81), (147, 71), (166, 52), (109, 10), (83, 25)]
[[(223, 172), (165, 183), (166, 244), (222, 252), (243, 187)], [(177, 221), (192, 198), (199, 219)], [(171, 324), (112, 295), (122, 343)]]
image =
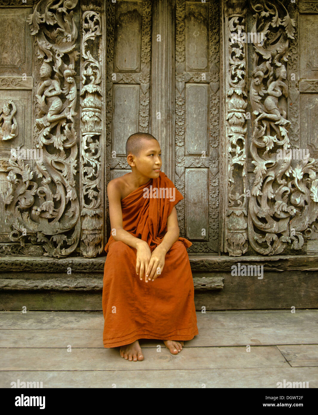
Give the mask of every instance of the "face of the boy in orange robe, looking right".
[(157, 140), (144, 141), (139, 156), (134, 158), (140, 173), (147, 177), (159, 177), (162, 160)]

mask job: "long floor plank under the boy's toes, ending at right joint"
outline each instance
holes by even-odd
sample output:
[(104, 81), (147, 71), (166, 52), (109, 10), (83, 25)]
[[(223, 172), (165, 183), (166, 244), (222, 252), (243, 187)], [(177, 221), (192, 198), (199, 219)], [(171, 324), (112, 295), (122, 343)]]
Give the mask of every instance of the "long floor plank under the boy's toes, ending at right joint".
[[(288, 365), (276, 347), (184, 347), (172, 355), (144, 349), (143, 361), (126, 361), (119, 349), (2, 349), (0, 370), (131, 370), (136, 369), (224, 369), (243, 367), (284, 367)], [(131, 366), (127, 366), (132, 364)]]

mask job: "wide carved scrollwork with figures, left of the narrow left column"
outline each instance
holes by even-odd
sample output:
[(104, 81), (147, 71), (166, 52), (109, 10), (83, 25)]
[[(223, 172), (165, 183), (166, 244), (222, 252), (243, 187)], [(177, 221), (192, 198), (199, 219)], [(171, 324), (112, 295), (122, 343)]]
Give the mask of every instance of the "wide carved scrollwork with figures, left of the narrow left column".
[(28, 23), (36, 39), (34, 144), (41, 154), (35, 173), (24, 161), (11, 157), (5, 198), (10, 239), (23, 246), (43, 242), (49, 256), (67, 256), (80, 236), (79, 202), (76, 194), (77, 114), (74, 76), (77, 29), (73, 10), (77, 0), (37, 3)]

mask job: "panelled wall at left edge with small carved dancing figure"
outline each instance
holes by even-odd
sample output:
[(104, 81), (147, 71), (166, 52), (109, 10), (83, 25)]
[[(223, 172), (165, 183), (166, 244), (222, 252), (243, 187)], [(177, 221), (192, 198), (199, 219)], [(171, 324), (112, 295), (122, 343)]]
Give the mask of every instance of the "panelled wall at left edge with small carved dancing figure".
[[(1, 5), (6, 4), (0, 2)], [(12, 242), (10, 223), (5, 222), (11, 149), (17, 154), (20, 149), (26, 152), (33, 148), (32, 39), (27, 24), (30, 12), (30, 7), (0, 7), (0, 21), (5, 22), (0, 25), (0, 242)], [(28, 154), (24, 156), (29, 158), (27, 162), (32, 168), (31, 152)], [(0, 254), (7, 252), (3, 248), (2, 245)]]

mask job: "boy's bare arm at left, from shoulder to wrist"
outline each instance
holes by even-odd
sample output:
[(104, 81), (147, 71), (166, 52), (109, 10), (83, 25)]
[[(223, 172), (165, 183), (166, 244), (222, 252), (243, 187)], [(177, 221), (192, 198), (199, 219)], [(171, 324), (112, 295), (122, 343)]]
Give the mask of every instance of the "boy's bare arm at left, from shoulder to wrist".
[[(109, 201), (109, 218), (110, 226), (112, 228), (112, 235), (115, 241), (122, 241), (125, 244), (137, 249), (140, 243), (144, 243), (142, 239), (132, 236), (129, 232), (122, 228), (122, 206), (120, 203), (120, 191), (116, 183), (112, 180), (107, 186), (107, 195)], [(113, 234), (115, 229), (115, 234)]]

